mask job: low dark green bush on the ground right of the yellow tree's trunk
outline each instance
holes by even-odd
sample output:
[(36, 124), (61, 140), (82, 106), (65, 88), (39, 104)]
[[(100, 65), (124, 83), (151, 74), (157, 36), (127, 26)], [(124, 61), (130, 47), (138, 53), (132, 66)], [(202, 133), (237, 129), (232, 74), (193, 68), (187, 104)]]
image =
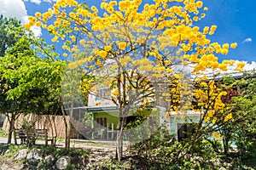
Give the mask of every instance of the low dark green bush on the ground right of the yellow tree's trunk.
[[(214, 147), (213, 147), (214, 145)], [(218, 141), (189, 140), (179, 143), (165, 128), (150, 138), (129, 147), (129, 153), (138, 161), (138, 167), (150, 169), (218, 169), (229, 167), (218, 156)], [(216, 149), (217, 148), (217, 149)]]

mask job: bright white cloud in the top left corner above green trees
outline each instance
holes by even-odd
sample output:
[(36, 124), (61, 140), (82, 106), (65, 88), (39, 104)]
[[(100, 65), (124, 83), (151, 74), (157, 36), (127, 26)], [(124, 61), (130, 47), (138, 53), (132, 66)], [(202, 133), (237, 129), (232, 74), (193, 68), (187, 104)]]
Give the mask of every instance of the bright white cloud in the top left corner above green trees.
[[(32, 1), (36, 2), (40, 0)], [(26, 6), (22, 0), (0, 0), (0, 14), (3, 14), (5, 17), (16, 18), (21, 21), (21, 24), (25, 24), (28, 21)], [(41, 28), (39, 27), (33, 26), (31, 30), (37, 37), (42, 35)]]

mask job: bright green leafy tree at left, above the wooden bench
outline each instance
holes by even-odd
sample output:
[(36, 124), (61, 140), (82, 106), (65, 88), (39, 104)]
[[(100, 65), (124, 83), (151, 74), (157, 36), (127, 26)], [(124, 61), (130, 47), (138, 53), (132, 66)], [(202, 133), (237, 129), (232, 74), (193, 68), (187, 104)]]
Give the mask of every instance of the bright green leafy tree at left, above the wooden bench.
[(8, 143), (21, 113), (44, 114), (58, 109), (58, 86), (64, 62), (38, 57), (32, 44), (32, 39), (20, 38), (1, 58), (0, 105), (10, 123)]

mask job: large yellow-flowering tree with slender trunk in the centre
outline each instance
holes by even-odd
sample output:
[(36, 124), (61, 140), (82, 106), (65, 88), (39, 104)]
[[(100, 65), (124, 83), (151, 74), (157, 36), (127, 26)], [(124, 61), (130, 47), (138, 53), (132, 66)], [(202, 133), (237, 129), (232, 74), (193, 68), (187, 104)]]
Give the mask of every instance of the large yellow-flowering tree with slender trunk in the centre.
[(96, 93), (100, 87), (113, 92), (111, 99), (119, 106), (120, 160), (122, 129), (131, 105), (147, 98), (157, 100), (154, 87), (161, 87), (159, 82), (166, 83), (164, 92), (170, 92), (172, 77), (184, 79), (180, 66), (194, 65), (193, 72), (200, 74), (207, 69), (225, 71), (230, 65), (218, 63), (216, 54), (228, 54), (236, 43), (210, 41), (217, 26), (196, 26), (205, 11), (197, 0), (103, 1), (100, 9), (75, 0), (57, 0), (44, 14), (29, 17), (26, 28), (48, 30), (52, 42), (63, 43), (66, 52), (62, 55), (73, 59), (69, 67), (82, 67), (85, 75), (95, 77), (97, 85), (87, 86), (84, 92)]

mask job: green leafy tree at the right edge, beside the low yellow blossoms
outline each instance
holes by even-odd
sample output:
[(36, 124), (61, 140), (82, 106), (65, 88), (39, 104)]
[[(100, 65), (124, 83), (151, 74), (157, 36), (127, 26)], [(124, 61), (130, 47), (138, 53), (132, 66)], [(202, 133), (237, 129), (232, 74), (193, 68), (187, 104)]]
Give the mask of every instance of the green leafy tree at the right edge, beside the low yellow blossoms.
[[(233, 97), (230, 108), (234, 113), (232, 122), (226, 131), (230, 140), (236, 144), (241, 158), (256, 158), (256, 74), (245, 74), (241, 79), (233, 80), (231, 87), (239, 89), (240, 95)], [(254, 160), (255, 161), (255, 160)]]

